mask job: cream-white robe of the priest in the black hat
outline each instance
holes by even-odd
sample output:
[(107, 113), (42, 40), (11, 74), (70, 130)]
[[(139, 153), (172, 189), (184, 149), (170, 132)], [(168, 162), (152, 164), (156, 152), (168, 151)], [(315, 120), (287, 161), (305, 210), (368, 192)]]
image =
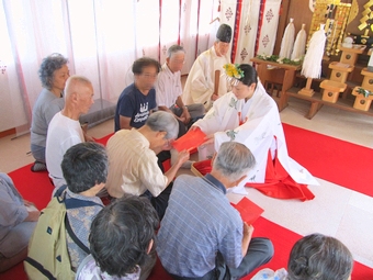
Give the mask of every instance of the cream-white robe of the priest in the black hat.
[(214, 46), (203, 52), (190, 70), (182, 101), (185, 105), (202, 103), (206, 111), (212, 107), (211, 96), (214, 92), (215, 70), (221, 70), (218, 96), (228, 92), (228, 85), (223, 66), (230, 64), (228, 56), (217, 56)]

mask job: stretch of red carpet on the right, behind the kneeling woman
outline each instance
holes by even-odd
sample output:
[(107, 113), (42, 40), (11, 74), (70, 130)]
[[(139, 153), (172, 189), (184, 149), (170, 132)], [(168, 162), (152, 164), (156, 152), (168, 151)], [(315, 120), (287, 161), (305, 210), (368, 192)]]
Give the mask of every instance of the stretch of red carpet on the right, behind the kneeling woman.
[(320, 179), (373, 197), (373, 149), (283, 124), (289, 155)]

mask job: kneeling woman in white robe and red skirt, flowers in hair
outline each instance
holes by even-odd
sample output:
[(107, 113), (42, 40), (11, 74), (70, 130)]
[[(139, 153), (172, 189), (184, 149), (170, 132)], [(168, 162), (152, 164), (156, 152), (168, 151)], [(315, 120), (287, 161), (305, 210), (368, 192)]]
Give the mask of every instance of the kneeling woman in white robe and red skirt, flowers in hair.
[(215, 150), (227, 141), (245, 144), (257, 159), (246, 186), (279, 199), (310, 200), (307, 184), (313, 176), (289, 157), (280, 114), (274, 100), (258, 81), (250, 65), (226, 65), (233, 91), (214, 102), (212, 110), (194, 123), (214, 142)]

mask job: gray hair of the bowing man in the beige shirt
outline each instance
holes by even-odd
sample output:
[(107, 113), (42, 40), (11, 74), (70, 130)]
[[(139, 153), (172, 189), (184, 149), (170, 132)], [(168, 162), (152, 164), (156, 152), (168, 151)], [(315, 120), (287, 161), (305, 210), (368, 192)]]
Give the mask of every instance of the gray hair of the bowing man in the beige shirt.
[(179, 123), (173, 114), (165, 111), (157, 111), (149, 115), (145, 123), (154, 132), (166, 132), (166, 138), (177, 138)]

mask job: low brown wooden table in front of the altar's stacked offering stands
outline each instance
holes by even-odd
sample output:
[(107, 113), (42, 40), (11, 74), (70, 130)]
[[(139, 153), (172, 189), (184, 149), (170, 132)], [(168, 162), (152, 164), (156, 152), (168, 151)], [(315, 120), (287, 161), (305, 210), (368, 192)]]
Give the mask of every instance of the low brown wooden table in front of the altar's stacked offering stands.
[(307, 97), (307, 96), (298, 94), (297, 93), (298, 91), (299, 91), (299, 88), (294, 88), (294, 87), (290, 88), (285, 92), (286, 102), (287, 102), (289, 97), (309, 101), (310, 107), (309, 107), (308, 112), (305, 115), (305, 117), (307, 117), (308, 120), (313, 119), (315, 114), (318, 112), (318, 110), (321, 109), (323, 105), (329, 105), (329, 107), (338, 108), (338, 109), (346, 110), (349, 112), (373, 116), (373, 108), (371, 108), (369, 111), (357, 110), (353, 108), (354, 101), (351, 99), (339, 98), (336, 103), (331, 103), (331, 102), (323, 100), (323, 94), (320, 92), (315, 92), (313, 97)]

